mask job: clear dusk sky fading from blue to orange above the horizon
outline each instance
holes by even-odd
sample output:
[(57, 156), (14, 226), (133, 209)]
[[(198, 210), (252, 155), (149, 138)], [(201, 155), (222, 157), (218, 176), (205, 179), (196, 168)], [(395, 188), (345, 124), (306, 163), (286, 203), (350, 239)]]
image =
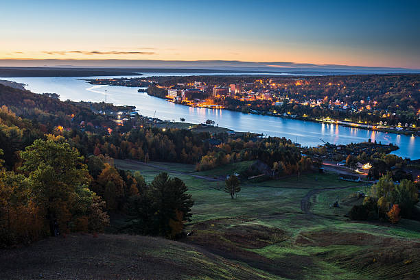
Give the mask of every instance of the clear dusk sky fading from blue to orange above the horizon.
[(234, 60), (420, 69), (418, 0), (5, 2), (2, 66)]

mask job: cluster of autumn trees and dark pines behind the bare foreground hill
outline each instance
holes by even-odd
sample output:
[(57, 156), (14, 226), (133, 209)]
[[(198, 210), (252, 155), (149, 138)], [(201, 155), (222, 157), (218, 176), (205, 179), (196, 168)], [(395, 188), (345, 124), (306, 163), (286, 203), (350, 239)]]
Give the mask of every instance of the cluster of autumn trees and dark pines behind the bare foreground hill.
[[(113, 167), (112, 158), (83, 157), (72, 140), (43, 134), (4, 108), (0, 123), (2, 133), (17, 131), (12, 135), (18, 141), (28, 129), (38, 136), (14, 151), (11, 167), (0, 162), (0, 247), (75, 231), (102, 232), (109, 225), (107, 212), (130, 218), (123, 232), (182, 234), (194, 202), (180, 179), (161, 174), (146, 185), (139, 173)], [(0, 148), (8, 146), (3, 142)]]

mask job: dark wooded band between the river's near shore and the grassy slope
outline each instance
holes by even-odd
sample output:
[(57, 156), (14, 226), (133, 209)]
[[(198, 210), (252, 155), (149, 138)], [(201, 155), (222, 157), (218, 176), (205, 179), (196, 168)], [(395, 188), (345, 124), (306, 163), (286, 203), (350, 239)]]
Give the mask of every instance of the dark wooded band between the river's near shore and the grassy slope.
[[(14, 97), (11, 98), (10, 94)], [(30, 100), (32, 105), (27, 105), (25, 99)], [(33, 94), (29, 91), (8, 87), (0, 88), (0, 100), (14, 108), (13, 110), (17, 110), (16, 106), (20, 107), (20, 110), (18, 110), (20, 115), (32, 120), (32, 122), (27, 121), (29, 126), (32, 123), (32, 127), (29, 127), (27, 132), (37, 131), (38, 134), (32, 137), (28, 136), (27, 144), (42, 136), (43, 133), (60, 134), (68, 140), (71, 147), (78, 149), (84, 156), (102, 154), (118, 159), (129, 158), (146, 162), (148, 160), (182, 162), (198, 164), (198, 170), (242, 160), (261, 160), (270, 167), (273, 166), (273, 162), (283, 160), (285, 166), (288, 164), (293, 166), (300, 160), (298, 149), (294, 147), (290, 140), (285, 140), (285, 138), (253, 139), (254, 142), (250, 135), (245, 134), (240, 139), (224, 143), (224, 146), (215, 147), (209, 144), (208, 140), (211, 138), (209, 133), (193, 133), (188, 129), (167, 129), (163, 131), (163, 129), (156, 127), (131, 129), (130, 123), (116, 129), (112, 120), (106, 120), (100, 114), (93, 114), (86, 107), (80, 108), (78, 105), (40, 94)], [(28, 114), (28, 112), (30, 113)], [(40, 117), (45, 114), (49, 115), (48, 120)], [(66, 120), (69, 121), (69, 125), (73, 125), (73, 129), (70, 131), (57, 130), (54, 127), (54, 124), (65, 123)], [(44, 123), (45, 121), (46, 123)], [(79, 125), (82, 122), (97, 122), (95, 123), (97, 129), (95, 127), (93, 129), (84, 128), (84, 131), (82, 131)], [(107, 122), (109, 127), (114, 128), (111, 134), (104, 128), (104, 123)], [(87, 131), (93, 133), (87, 133)], [(224, 136), (215, 137), (224, 139)], [(17, 137), (16, 139), (21, 138)], [(25, 147), (25, 145), (14, 147), (11, 151), (8, 151), (8, 155), (22, 147)], [(285, 156), (282, 155), (277, 158), (277, 155), (280, 154)], [(202, 160), (203, 156), (206, 157)], [(219, 160), (214, 160), (215, 157)], [(8, 160), (8, 166), (10, 166), (10, 160)]]

